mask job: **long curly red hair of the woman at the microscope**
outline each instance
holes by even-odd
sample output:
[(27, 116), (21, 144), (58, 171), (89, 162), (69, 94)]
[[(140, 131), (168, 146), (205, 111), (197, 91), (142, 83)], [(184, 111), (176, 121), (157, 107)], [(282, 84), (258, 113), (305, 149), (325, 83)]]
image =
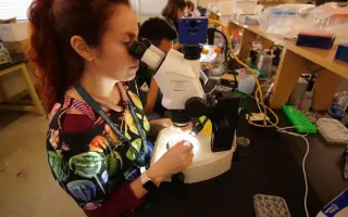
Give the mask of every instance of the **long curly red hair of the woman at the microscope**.
[(84, 60), (71, 47), (73, 36), (97, 48), (108, 21), (119, 4), (128, 0), (34, 0), (28, 10), (30, 49), (28, 56), (40, 80), (46, 112), (75, 85)]

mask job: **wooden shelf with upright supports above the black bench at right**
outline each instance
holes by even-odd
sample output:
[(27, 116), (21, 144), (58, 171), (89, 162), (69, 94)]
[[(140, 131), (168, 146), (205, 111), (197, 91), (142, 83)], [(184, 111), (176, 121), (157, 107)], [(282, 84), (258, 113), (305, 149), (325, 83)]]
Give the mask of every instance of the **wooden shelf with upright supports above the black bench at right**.
[(243, 30), (240, 60), (249, 56), (249, 48), (252, 41), (257, 39), (263, 42), (264, 49), (271, 48), (273, 44), (284, 47), (270, 101), (272, 108), (281, 108), (285, 105), (300, 75), (310, 74), (310, 66), (313, 63), (322, 66), (322, 69), (318, 73), (313, 90), (312, 107), (315, 111), (326, 111), (332, 103), (332, 98), (336, 93), (340, 79), (348, 78), (348, 63), (334, 59), (337, 44), (334, 44), (330, 50), (298, 47), (295, 40), (265, 33), (259, 26), (248, 26), (229, 21), (229, 34), (233, 35), (236, 29)]

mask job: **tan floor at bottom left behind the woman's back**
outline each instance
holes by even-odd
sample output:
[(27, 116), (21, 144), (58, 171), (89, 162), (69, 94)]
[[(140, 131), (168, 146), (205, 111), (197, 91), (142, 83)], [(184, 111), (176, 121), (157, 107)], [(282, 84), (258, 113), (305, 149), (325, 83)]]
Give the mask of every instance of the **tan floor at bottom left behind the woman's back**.
[(46, 116), (0, 113), (0, 216), (83, 217), (46, 159)]

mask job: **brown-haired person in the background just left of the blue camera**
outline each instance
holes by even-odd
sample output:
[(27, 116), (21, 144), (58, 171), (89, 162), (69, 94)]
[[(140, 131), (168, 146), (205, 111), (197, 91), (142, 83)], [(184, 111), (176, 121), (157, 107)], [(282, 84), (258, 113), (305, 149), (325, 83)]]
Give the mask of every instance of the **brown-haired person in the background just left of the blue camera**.
[[(183, 17), (186, 10), (185, 0), (167, 0), (166, 5), (162, 11), (162, 16), (164, 21), (176, 31), (178, 33), (178, 18)], [(178, 38), (174, 40), (173, 48), (178, 50), (182, 48), (182, 44), (178, 43)]]

